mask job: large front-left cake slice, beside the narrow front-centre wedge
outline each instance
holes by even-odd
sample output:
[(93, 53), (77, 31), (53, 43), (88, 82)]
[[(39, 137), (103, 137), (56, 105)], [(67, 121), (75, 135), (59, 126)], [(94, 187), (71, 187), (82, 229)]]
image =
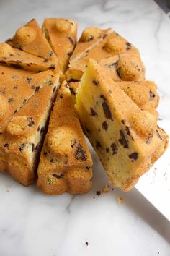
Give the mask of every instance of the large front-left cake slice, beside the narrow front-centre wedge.
[(1, 127), (0, 170), (9, 172), (24, 186), (34, 180), (58, 80), (56, 74)]

